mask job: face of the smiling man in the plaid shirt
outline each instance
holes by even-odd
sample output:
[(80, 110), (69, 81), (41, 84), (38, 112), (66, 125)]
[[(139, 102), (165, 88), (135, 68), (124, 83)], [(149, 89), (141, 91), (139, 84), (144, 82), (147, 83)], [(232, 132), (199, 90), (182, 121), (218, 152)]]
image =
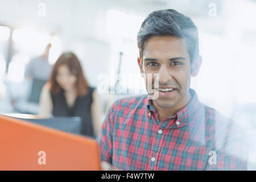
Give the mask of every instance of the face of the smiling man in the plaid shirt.
[[(191, 80), (191, 63), (184, 40), (173, 36), (153, 36), (144, 44), (141, 72), (151, 73), (151, 85), (158, 98), (152, 100), (158, 107), (171, 108), (187, 104)], [(158, 76), (157, 74), (158, 73)], [(158, 81), (159, 88), (154, 88)], [(150, 92), (148, 92), (150, 94)]]

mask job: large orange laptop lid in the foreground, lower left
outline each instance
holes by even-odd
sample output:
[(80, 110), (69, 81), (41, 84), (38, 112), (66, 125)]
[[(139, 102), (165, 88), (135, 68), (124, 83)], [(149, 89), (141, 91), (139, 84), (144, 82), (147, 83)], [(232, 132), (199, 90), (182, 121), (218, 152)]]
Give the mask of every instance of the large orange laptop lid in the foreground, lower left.
[(0, 170), (100, 170), (92, 138), (0, 115)]

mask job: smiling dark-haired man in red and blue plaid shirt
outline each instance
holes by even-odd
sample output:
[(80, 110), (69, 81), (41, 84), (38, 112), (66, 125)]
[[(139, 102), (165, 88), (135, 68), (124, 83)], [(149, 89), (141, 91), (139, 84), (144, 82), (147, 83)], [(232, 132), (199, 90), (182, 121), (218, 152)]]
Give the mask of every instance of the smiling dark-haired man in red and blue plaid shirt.
[(201, 65), (192, 20), (175, 10), (154, 11), (137, 40), (148, 94), (110, 107), (98, 136), (101, 160), (122, 170), (246, 170), (241, 126), (190, 88)]

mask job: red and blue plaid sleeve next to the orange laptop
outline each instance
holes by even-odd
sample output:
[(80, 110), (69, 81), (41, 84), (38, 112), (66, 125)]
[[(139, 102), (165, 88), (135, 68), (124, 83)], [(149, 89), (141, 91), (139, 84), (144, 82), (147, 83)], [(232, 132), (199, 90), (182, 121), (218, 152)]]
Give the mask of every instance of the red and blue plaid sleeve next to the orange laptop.
[(110, 107), (105, 121), (102, 123), (98, 142), (100, 145), (101, 160), (112, 164), (113, 154), (113, 127), (115, 120), (116, 102)]

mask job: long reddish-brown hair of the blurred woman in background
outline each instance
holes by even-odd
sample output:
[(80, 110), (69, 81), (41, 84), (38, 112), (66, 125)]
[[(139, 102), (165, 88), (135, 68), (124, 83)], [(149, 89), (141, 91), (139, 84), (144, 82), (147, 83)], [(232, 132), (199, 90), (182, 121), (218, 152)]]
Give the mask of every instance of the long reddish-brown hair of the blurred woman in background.
[(60, 55), (56, 63), (53, 65), (51, 76), (49, 77), (49, 90), (53, 94), (60, 93), (61, 87), (56, 81), (57, 71), (60, 65), (67, 65), (69, 71), (77, 77), (76, 81), (76, 92), (77, 96), (85, 96), (87, 93), (89, 84), (86, 81), (84, 73), (82, 72), (82, 67), (79, 59), (72, 52), (65, 52)]

